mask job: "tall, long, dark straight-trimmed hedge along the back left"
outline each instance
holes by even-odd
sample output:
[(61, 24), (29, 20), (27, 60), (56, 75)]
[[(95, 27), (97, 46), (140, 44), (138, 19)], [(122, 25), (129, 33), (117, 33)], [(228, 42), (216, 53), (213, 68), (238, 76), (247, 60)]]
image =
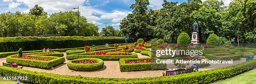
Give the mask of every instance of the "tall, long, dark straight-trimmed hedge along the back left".
[(0, 38), (0, 52), (41, 50), (42, 48), (77, 48), (85, 45), (105, 45), (105, 43), (125, 43), (123, 37), (8, 37)]

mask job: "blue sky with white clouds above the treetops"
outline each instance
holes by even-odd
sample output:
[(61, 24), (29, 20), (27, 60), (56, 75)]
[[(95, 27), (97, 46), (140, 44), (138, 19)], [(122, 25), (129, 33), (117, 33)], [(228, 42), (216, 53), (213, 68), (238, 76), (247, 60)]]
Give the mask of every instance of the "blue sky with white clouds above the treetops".
[[(187, 0), (167, 0), (178, 3), (187, 2)], [(204, 1), (204, 0), (202, 0)], [(150, 5), (148, 9), (162, 8), (163, 0), (149, 0)], [(225, 5), (231, 0), (224, 0)], [(74, 10), (73, 8), (79, 6), (81, 15), (87, 18), (87, 21), (98, 25), (100, 30), (105, 27), (105, 22), (119, 29), (120, 20), (127, 14), (131, 13), (130, 6), (135, 3), (134, 0), (1, 0), (0, 13), (7, 11), (20, 11), (28, 13), (29, 9), (38, 4), (43, 7), (48, 13), (55, 13), (59, 11)]]

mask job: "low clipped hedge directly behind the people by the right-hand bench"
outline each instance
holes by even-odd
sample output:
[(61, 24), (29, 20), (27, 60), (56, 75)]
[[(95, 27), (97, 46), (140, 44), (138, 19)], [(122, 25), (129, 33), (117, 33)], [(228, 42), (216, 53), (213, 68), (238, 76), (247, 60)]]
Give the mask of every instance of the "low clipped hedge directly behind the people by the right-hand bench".
[[(205, 59), (207, 61), (209, 61), (209, 59), (207, 59), (205, 57), (198, 57), (198, 56), (193, 56), (193, 57), (192, 56), (176, 57), (174, 59), (174, 65), (177, 66), (178, 64), (176, 63), (176, 61), (177, 60), (182, 60), (182, 59), (183, 59), (183, 61), (190, 61), (190, 60), (194, 60), (195, 61), (197, 59), (197, 61), (200, 61), (199, 68), (210, 66), (210, 64), (205, 64), (205, 63), (202, 64), (201, 63), (202, 59)], [(180, 65), (181, 65), (181, 67), (186, 67), (185, 64), (180, 64)]]

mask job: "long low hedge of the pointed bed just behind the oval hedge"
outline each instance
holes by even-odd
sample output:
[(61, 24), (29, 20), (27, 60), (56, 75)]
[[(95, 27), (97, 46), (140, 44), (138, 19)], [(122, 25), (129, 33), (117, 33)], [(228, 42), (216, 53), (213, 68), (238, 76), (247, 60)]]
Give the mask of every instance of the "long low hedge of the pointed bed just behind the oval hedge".
[[(120, 48), (117, 48), (120, 49)], [(110, 50), (104, 50), (104, 51), (113, 51), (115, 49), (110, 49)], [(128, 49), (126, 50), (126, 52), (132, 52), (133, 49)], [(97, 53), (97, 52), (102, 52), (102, 51), (94, 51), (94, 52), (88, 52), (88, 53)], [(111, 53), (124, 53), (125, 51), (116, 51), (116, 52), (110, 52), (107, 54), (111, 54)], [(67, 59), (68, 60), (73, 60), (73, 59), (83, 59), (83, 58), (97, 58), (97, 59), (102, 59), (102, 60), (113, 60), (113, 61), (117, 61), (119, 59), (127, 59), (127, 58), (138, 58), (138, 55), (136, 53), (129, 53), (131, 55), (83, 55), (86, 53), (76, 53), (76, 54), (71, 54), (71, 55), (67, 55)]]

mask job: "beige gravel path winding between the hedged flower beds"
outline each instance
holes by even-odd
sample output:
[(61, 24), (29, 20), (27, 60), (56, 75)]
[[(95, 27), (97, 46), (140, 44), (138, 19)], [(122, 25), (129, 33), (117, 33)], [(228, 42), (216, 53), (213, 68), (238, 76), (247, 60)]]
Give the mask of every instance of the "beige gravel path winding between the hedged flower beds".
[[(137, 53), (138, 58), (146, 58), (148, 56), (141, 55)], [(64, 53), (64, 57), (66, 57), (66, 53)], [(0, 59), (0, 65), (3, 65), (2, 62), (6, 63), (6, 58)], [(238, 64), (244, 62), (245, 59), (241, 58), (239, 61), (234, 61), (234, 63)], [(64, 64), (59, 66), (55, 66), (54, 69), (38, 69), (24, 66), (23, 69), (29, 71), (38, 71), (38, 72), (47, 72), (54, 73), (60, 75), (74, 75), (74, 76), (86, 76), (86, 77), (104, 77), (104, 78), (140, 78), (140, 77), (156, 77), (162, 76), (162, 72), (166, 70), (152, 70), (152, 71), (125, 71), (121, 72), (119, 69), (118, 61), (104, 61), (104, 66), (100, 70), (96, 71), (73, 71), (67, 67), (67, 62), (69, 60), (66, 59)], [(172, 67), (173, 64), (168, 64), (167, 66)], [(217, 66), (217, 65), (215, 65)], [(228, 65), (226, 65), (228, 66)], [(20, 66), (19, 66), (20, 67)], [(211, 68), (211, 67), (208, 67)], [(207, 70), (207, 69), (199, 69), (199, 71)]]

